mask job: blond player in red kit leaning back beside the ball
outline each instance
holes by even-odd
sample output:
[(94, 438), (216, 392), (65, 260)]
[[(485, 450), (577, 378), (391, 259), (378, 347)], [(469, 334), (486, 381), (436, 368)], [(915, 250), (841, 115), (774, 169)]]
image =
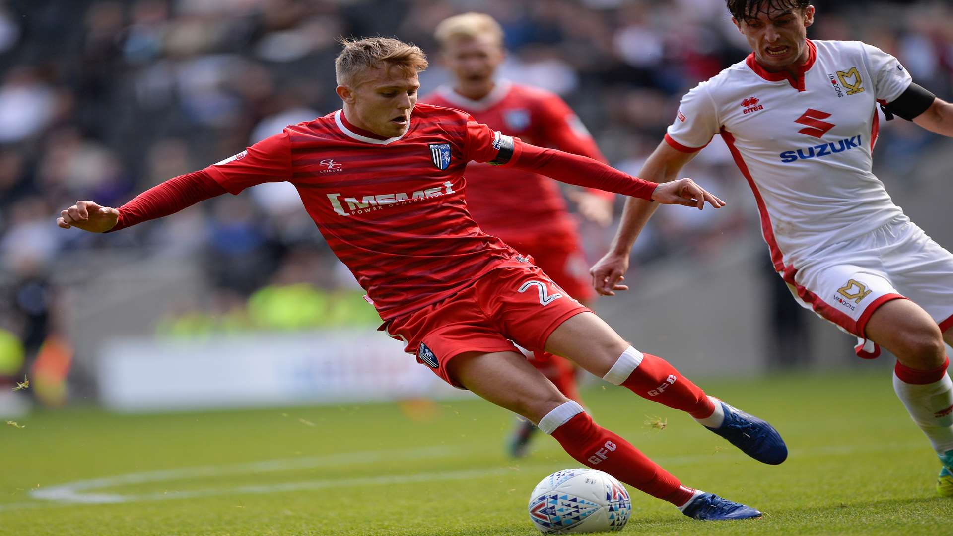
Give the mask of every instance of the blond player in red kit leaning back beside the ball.
[[(476, 160), (537, 171), (665, 204), (724, 203), (690, 178), (664, 185), (596, 160), (523, 143), (466, 113), (416, 104), (419, 48), (375, 37), (344, 41), (335, 61), (342, 110), (288, 126), (246, 151), (173, 177), (119, 209), (78, 201), (57, 224), (105, 233), (262, 182), (297, 188), (335, 255), (384, 320), (444, 381), (516, 412), (581, 464), (668, 501), (685, 515), (760, 516), (682, 485), (631, 443), (598, 426), (530, 365), (513, 341), (575, 361), (639, 396), (689, 413), (749, 456), (779, 464), (770, 424), (712, 399), (667, 361), (633, 348), (528, 258), (483, 233), (467, 212), (463, 169)], [(359, 359), (354, 357), (354, 359)], [(554, 508), (555, 509), (555, 508)], [(577, 523), (554, 511), (554, 528)]]

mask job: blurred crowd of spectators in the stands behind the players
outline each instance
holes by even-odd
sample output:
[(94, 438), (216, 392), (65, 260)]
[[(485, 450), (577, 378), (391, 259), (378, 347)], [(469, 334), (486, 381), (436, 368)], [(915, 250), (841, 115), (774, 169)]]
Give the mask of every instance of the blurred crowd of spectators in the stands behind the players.
[[(875, 44), (949, 99), (949, 2), (814, 5), (810, 37)], [(220, 196), (116, 235), (65, 232), (54, 218), (77, 199), (119, 206), (286, 124), (336, 110), (338, 36), (413, 41), (432, 59), (421, 92), (433, 90), (448, 75), (432, 31), (465, 10), (489, 12), (502, 24), (510, 52), (502, 76), (561, 94), (610, 161), (633, 174), (659, 143), (679, 96), (749, 52), (722, 0), (0, 0), (0, 377), (22, 374), (24, 357), (62, 343), (57, 274), (95, 258), (76, 252), (201, 258), (220, 299), (174, 312), (157, 326), (165, 334), (192, 333), (202, 324), (195, 315), (224, 312), (242, 329), (340, 318), (321, 313), (360, 292), (290, 185)], [(932, 139), (901, 124), (884, 130), (878, 151), (881, 158), (910, 155)], [(686, 173), (722, 197), (750, 197), (717, 143)], [(705, 237), (730, 240), (755, 217), (753, 210), (666, 211), (636, 255), (650, 262), (673, 253), (670, 244), (694, 249)], [(613, 230), (583, 232), (595, 260)], [(274, 299), (261, 299), (261, 290), (285, 287), (316, 293), (311, 320), (269, 323), (261, 313), (261, 301)], [(249, 300), (256, 293), (258, 301)], [(347, 315), (375, 320), (373, 311)], [(60, 354), (51, 362), (69, 360), (68, 347)]]

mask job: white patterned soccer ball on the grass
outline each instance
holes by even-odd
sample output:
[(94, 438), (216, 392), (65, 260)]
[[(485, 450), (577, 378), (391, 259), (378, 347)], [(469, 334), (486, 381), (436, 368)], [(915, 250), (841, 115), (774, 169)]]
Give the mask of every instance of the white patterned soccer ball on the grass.
[(543, 534), (621, 530), (632, 515), (629, 492), (596, 469), (563, 469), (530, 496), (530, 520)]

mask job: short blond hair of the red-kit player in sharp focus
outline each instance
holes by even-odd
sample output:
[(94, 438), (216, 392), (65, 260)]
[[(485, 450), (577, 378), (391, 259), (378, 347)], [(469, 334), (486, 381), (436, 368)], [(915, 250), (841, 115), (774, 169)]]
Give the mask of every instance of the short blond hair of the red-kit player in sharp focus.
[(357, 75), (369, 69), (396, 66), (416, 74), (427, 69), (427, 54), (420, 47), (390, 37), (340, 39), (344, 50), (335, 59), (337, 85), (354, 85)]

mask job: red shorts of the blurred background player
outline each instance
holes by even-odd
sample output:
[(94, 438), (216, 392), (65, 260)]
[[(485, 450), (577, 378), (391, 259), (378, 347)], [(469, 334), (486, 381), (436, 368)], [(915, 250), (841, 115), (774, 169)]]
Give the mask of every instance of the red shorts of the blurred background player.
[[(506, 238), (503, 238), (503, 241), (510, 243)], [(596, 298), (593, 279), (589, 276), (589, 264), (576, 235), (568, 236), (557, 243), (553, 240), (527, 240), (510, 245), (519, 253), (531, 256), (533, 263), (553, 278), (569, 296), (581, 301)]]

